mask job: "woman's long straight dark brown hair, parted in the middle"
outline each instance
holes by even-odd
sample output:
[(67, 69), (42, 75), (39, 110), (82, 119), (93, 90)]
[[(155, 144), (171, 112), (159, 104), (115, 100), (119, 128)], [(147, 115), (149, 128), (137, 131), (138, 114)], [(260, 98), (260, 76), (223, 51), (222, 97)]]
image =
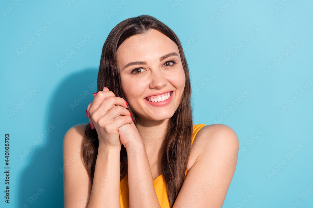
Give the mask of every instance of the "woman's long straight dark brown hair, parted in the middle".
[[(176, 43), (186, 77), (186, 84), (181, 102), (174, 115), (168, 121), (164, 142), (161, 146), (162, 173), (166, 181), (167, 196), (172, 207), (185, 179), (185, 171), (192, 141), (192, 106), (189, 69), (182, 45), (176, 34), (167, 27), (167, 25), (149, 15), (128, 18), (117, 24), (108, 35), (102, 48), (97, 79), (97, 92), (104, 87), (108, 87), (108, 89), (110, 89), (116, 96), (125, 99), (121, 88), (121, 78), (117, 65), (116, 50), (130, 36), (145, 34), (151, 29), (162, 32)], [(136, 113), (132, 111), (131, 106), (127, 109), (133, 115), (133, 122), (136, 125)], [(93, 181), (95, 173), (98, 144), (97, 132), (95, 129), (91, 129), (88, 123), (85, 128), (85, 138), (82, 143), (82, 156), (91, 181)], [(120, 154), (120, 181), (126, 173), (127, 152), (122, 145)]]

